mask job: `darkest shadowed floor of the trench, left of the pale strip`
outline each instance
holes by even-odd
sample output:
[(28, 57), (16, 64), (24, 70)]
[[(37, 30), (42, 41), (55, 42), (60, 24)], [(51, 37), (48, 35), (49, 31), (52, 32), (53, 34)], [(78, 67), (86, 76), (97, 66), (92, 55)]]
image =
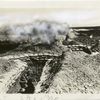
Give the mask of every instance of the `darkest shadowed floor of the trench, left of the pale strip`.
[(45, 60), (35, 60), (30, 58), (28, 61), (28, 69), (24, 71), (19, 79), (20, 90), (18, 93), (32, 94), (35, 91), (35, 85), (40, 81)]

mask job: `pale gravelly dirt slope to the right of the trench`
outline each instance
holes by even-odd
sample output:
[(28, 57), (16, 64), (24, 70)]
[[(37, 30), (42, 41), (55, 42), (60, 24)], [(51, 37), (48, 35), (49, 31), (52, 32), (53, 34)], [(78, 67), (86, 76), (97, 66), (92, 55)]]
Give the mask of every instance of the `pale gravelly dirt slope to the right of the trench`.
[(48, 93), (100, 93), (100, 54), (66, 52)]

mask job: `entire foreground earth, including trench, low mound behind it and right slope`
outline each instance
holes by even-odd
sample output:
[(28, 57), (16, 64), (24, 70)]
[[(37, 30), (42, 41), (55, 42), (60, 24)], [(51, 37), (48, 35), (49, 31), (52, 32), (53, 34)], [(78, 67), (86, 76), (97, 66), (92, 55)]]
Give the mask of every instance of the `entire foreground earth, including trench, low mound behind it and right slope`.
[[(100, 93), (100, 53), (59, 45), (20, 46), (1, 54), (0, 73), (0, 93)], [(24, 92), (23, 77), (33, 84)]]

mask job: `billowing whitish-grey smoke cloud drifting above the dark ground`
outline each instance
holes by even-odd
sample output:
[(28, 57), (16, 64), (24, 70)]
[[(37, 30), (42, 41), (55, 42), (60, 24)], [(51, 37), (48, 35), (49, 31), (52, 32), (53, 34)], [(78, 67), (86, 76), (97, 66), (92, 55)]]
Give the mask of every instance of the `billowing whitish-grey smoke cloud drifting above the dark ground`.
[(36, 20), (28, 24), (12, 24), (0, 28), (0, 41), (31, 42), (50, 44), (68, 34), (65, 23)]

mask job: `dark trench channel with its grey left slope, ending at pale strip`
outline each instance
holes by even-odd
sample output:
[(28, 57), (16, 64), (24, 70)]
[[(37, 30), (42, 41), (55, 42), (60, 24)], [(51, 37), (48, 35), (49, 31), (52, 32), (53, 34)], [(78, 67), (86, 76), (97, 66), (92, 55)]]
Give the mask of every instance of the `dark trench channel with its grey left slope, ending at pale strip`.
[[(34, 93), (34, 87), (40, 80), (45, 60), (35, 60), (33, 58), (26, 60), (26, 68), (7, 93)], [(26, 87), (27, 86), (27, 87)], [(26, 89), (22, 91), (22, 89)]]

